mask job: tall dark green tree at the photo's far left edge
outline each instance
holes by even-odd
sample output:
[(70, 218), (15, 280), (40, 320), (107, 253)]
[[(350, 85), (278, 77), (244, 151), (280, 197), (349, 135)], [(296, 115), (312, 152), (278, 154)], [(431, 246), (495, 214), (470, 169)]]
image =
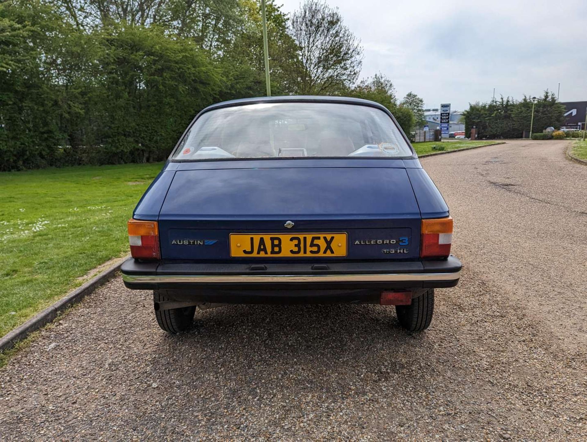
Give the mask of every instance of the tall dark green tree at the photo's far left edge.
[(45, 167), (58, 154), (62, 109), (50, 85), (60, 79), (50, 55), (67, 39), (41, 2), (0, 4), (0, 170)]

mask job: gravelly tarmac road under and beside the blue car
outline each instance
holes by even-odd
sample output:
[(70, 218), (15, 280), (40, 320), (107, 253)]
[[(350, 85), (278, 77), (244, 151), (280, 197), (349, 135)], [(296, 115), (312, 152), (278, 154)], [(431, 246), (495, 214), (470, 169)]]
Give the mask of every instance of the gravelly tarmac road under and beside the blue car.
[(465, 269), (383, 306), (229, 306), (180, 336), (120, 278), (0, 369), (2, 440), (586, 440), (587, 167), (565, 141), (424, 158)]

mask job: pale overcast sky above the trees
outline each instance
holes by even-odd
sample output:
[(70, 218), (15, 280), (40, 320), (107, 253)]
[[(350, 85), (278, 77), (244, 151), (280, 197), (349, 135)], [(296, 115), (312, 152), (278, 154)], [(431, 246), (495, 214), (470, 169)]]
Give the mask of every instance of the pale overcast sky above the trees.
[[(300, 0), (277, 0), (285, 12)], [(426, 107), (557, 92), (587, 100), (587, 0), (327, 0), (361, 39), (361, 77), (380, 71)]]

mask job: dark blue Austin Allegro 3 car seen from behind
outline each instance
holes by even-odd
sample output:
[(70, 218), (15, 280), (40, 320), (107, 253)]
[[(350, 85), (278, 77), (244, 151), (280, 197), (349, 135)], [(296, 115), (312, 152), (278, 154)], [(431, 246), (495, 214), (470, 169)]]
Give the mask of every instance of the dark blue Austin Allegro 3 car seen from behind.
[(128, 223), (130, 289), (163, 330), (197, 306), (394, 305), (430, 325), (457, 285), (453, 219), (393, 115), (344, 97), (234, 100), (200, 112)]

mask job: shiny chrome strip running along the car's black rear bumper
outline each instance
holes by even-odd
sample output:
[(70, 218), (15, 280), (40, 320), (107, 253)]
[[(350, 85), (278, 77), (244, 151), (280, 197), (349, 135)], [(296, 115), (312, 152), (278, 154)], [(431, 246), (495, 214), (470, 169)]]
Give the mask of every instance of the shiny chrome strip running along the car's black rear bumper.
[(238, 282), (386, 282), (386, 281), (454, 281), (461, 271), (451, 273), (392, 273), (366, 275), (122, 275), (126, 282), (187, 282), (187, 283), (238, 283)]

